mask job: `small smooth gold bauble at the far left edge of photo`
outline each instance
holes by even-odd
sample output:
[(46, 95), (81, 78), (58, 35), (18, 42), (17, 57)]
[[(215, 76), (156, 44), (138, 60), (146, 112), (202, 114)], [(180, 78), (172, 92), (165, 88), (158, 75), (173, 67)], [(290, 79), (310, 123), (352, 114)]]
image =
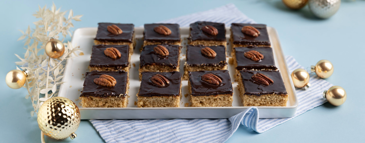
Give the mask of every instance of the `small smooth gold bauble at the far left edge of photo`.
[(12, 89), (19, 89), (24, 86), (28, 70), (11, 70), (6, 74), (5, 82)]

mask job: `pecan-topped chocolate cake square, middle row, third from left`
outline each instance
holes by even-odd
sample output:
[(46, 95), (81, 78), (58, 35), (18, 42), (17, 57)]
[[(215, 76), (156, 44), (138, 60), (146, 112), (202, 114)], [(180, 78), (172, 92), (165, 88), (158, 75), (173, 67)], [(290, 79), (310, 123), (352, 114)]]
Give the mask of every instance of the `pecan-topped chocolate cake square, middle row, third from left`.
[(188, 71), (226, 70), (226, 47), (188, 45), (184, 64), (183, 80), (188, 80)]

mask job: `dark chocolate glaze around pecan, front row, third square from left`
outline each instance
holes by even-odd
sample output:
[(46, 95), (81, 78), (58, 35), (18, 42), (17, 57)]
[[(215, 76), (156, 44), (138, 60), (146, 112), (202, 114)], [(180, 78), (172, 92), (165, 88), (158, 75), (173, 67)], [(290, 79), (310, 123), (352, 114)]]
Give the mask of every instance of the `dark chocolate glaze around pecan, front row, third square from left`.
[[(222, 79), (219, 85), (209, 84), (201, 80), (201, 76), (211, 73)], [(189, 71), (189, 82), (192, 96), (209, 96), (217, 94), (232, 94), (233, 87), (228, 70)]]

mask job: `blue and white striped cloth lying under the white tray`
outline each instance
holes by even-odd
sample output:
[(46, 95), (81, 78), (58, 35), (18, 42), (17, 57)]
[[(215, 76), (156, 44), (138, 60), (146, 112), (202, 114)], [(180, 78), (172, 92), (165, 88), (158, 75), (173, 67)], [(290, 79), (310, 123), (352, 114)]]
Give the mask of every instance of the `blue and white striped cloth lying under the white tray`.
[[(208, 16), (209, 15), (209, 16)], [(210, 16), (214, 15), (214, 16)], [(205, 12), (165, 20), (163, 23), (178, 23), (186, 27), (197, 20), (231, 23), (255, 23), (233, 4)], [(291, 56), (286, 57), (289, 70), (304, 68)], [(311, 74), (311, 88), (296, 89), (299, 106), (293, 117), (258, 119), (258, 109), (251, 107), (229, 119), (145, 119), (145, 120), (90, 120), (107, 143), (132, 142), (225, 142), (240, 124), (262, 133), (327, 102), (322, 92), (332, 84)]]

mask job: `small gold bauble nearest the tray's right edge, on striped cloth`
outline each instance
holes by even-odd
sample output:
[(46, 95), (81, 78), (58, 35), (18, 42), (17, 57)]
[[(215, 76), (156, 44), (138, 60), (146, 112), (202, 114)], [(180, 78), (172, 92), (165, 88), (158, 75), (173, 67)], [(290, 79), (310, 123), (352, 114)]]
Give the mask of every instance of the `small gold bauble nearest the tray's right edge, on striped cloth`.
[(296, 88), (308, 89), (311, 84), (309, 83), (309, 74), (304, 69), (296, 69), (291, 74), (293, 84)]

